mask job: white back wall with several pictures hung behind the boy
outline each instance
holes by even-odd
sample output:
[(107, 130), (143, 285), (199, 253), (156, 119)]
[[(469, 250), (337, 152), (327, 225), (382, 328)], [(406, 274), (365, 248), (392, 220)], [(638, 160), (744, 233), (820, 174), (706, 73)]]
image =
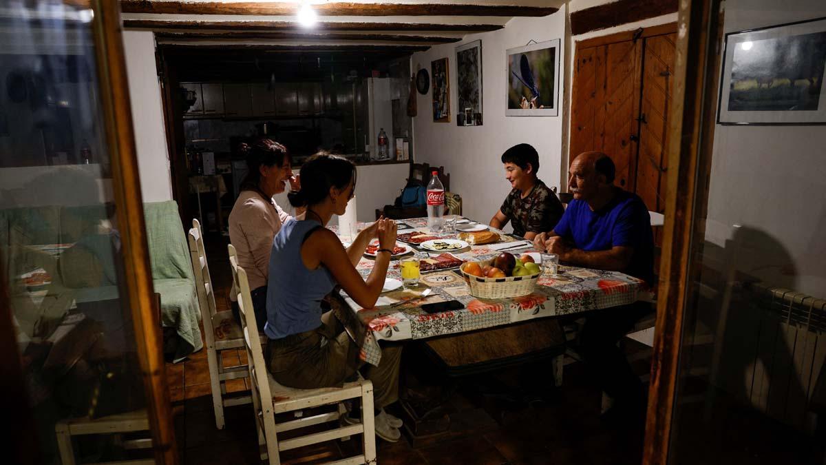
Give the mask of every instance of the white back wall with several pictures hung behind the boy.
[[(563, 39), (565, 7), (553, 15), (514, 18), (500, 31), (472, 34), (455, 44), (434, 46), (415, 53), (411, 71), (425, 68), (430, 61), (448, 57), (451, 122), (433, 122), (433, 89), (416, 93), (418, 115), (413, 118), (416, 162), (444, 165), (450, 173), (450, 190), (462, 196), (464, 216), (487, 223), (510, 192), (501, 155), (510, 146), (526, 142), (539, 152), (539, 178), (548, 186), (558, 186), (562, 156), (563, 116), (506, 117), (505, 50), (537, 42)], [(456, 47), (482, 40), (482, 126), (456, 126), (458, 93)], [(561, 56), (560, 63), (564, 63)], [(560, 87), (567, 85), (560, 74)], [(560, 99), (561, 100), (561, 99)]]

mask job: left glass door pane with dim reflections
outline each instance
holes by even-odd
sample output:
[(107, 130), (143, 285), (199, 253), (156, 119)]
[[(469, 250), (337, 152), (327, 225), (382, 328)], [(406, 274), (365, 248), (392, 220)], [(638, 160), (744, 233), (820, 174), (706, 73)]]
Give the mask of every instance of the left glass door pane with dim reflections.
[(62, 2), (16, 2), (2, 14), (0, 266), (40, 456), (146, 457), (126, 450), (120, 427), (76, 431), (99, 419), (146, 417), (121, 288), (122, 212), (97, 98), (93, 15)]

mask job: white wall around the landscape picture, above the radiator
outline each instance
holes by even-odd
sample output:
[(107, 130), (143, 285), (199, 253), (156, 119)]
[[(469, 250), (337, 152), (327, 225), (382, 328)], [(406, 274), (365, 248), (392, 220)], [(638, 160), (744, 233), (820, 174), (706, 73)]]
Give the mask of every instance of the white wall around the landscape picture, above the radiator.
[[(824, 16), (823, 0), (728, 0), (724, 30)], [(717, 125), (709, 198), (707, 240), (724, 245), (735, 224), (765, 233), (739, 268), (826, 298), (826, 127)], [(793, 276), (778, 255), (790, 256)]]

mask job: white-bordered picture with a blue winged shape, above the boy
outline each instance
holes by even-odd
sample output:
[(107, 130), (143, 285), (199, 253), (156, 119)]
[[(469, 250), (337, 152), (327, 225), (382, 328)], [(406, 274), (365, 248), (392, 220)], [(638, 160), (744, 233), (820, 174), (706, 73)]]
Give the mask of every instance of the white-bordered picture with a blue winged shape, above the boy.
[(506, 50), (507, 116), (559, 116), (559, 44)]

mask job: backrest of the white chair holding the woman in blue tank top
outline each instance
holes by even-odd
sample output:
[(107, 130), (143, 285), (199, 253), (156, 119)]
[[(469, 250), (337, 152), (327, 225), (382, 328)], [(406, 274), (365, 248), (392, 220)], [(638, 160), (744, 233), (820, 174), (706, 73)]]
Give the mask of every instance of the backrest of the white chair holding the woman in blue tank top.
[[(261, 348), (261, 338), (259, 336), (258, 324), (255, 321), (255, 311), (253, 309), (253, 298), (249, 294), (249, 280), (247, 272), (238, 265), (238, 253), (232, 244), (227, 246), (230, 254), (230, 267), (232, 268), (232, 280), (238, 294), (238, 308), (241, 313), (241, 328), (244, 330), (244, 347), (247, 350), (247, 360), (249, 367), (249, 380), (252, 381), (250, 391), (253, 395), (253, 404), (263, 412), (263, 423), (268, 432), (275, 434), (275, 424), (273, 416), (273, 395), (269, 390), (269, 378), (267, 375), (267, 362), (263, 358)], [(256, 411), (256, 415), (258, 412)], [(273, 436), (274, 437), (274, 436)]]

